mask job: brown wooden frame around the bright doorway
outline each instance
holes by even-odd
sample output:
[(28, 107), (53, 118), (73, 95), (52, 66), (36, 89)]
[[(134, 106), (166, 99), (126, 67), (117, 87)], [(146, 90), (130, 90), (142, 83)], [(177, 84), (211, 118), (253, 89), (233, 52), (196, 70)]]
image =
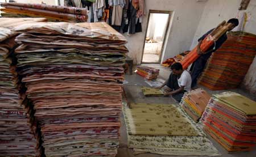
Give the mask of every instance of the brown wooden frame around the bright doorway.
[[(155, 13), (155, 14), (169, 14), (169, 17), (168, 17), (168, 20), (167, 20), (167, 25), (166, 25), (166, 31), (164, 32), (164, 39), (163, 39), (163, 44), (162, 44), (162, 48), (161, 48), (161, 54), (159, 56), (159, 61), (158, 62), (142, 62), (143, 60), (143, 55), (144, 55), (144, 48), (145, 48), (145, 41), (146, 41), (146, 37), (147, 37), (147, 29), (148, 29), (148, 23), (149, 23), (149, 20), (150, 20), (150, 14), (151, 13)], [(149, 10), (148, 12), (148, 18), (147, 18), (147, 28), (146, 28), (146, 33), (145, 33), (145, 36), (144, 36), (144, 41), (143, 41), (143, 49), (142, 49), (142, 55), (141, 55), (141, 64), (142, 63), (151, 63), (151, 64), (155, 64), (155, 63), (158, 63), (160, 64), (161, 63), (161, 60), (162, 60), (162, 56), (163, 56), (163, 49), (164, 49), (164, 45), (166, 43), (166, 36), (167, 36), (167, 31), (169, 29), (169, 26), (170, 26), (170, 21), (171, 21), (171, 15), (172, 15), (172, 11), (164, 11), (164, 10)]]

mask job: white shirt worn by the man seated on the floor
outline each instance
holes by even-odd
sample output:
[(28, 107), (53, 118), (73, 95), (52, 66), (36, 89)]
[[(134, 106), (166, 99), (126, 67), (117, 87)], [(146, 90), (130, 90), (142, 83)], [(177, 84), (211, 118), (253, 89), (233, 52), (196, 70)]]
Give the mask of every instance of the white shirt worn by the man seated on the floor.
[(180, 78), (177, 79), (179, 87), (185, 86), (184, 90), (190, 91), (191, 90), (191, 75), (188, 73), (187, 70), (184, 70), (183, 73), (181, 74)]

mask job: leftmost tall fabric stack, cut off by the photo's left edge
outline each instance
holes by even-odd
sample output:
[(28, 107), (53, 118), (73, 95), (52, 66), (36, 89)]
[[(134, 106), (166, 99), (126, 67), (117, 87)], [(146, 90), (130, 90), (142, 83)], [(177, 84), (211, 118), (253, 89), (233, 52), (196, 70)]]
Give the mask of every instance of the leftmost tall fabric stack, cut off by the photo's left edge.
[(0, 156), (39, 156), (33, 111), (16, 73), (16, 32), (0, 27)]

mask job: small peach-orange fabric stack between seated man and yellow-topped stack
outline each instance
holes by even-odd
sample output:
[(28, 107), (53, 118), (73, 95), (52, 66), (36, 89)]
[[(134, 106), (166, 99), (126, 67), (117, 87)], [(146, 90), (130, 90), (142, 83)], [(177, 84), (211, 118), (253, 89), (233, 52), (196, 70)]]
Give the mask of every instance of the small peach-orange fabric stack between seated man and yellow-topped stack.
[(185, 92), (180, 105), (195, 122), (198, 122), (209, 100), (210, 96), (207, 91), (197, 88)]

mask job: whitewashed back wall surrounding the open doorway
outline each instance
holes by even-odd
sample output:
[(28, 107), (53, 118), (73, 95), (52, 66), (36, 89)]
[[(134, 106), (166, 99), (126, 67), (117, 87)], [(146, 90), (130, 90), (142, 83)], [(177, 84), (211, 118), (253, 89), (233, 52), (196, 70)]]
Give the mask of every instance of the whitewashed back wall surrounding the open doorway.
[(170, 35), (167, 36), (163, 60), (174, 57), (176, 54), (188, 50), (191, 46), (205, 2), (196, 0), (145, 0), (147, 15), (143, 18), (142, 31), (135, 35), (126, 36), (129, 56), (134, 63), (141, 63), (144, 36), (149, 10), (174, 11)]

